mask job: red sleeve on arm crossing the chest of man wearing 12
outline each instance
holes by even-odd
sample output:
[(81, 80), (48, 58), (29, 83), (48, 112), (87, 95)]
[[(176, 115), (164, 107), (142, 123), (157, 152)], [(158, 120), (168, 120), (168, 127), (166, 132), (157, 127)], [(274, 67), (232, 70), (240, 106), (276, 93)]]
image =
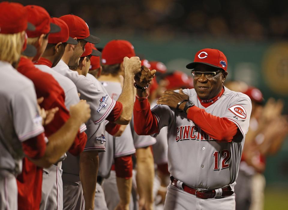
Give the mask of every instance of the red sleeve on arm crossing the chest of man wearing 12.
[(218, 142), (231, 142), (237, 133), (238, 127), (235, 123), (226, 118), (209, 114), (196, 106), (188, 109), (187, 118)]

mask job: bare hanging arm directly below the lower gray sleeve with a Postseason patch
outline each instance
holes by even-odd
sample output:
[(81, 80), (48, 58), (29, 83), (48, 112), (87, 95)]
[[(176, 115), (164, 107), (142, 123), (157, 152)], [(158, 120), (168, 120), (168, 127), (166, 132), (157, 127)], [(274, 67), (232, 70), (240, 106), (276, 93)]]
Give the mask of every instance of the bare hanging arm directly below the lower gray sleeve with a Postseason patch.
[(98, 151), (87, 151), (80, 154), (80, 180), (83, 188), (85, 210), (94, 209), (98, 164)]

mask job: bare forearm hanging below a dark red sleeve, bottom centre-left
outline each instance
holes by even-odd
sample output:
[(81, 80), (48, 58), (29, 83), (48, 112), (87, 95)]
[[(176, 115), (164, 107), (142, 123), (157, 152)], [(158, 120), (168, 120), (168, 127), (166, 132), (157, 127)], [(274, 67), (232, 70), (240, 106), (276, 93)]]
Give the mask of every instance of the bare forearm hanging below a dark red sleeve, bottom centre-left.
[(122, 209), (129, 209), (131, 189), (132, 189), (132, 178), (126, 179), (116, 177), (117, 188), (120, 197), (120, 206)]

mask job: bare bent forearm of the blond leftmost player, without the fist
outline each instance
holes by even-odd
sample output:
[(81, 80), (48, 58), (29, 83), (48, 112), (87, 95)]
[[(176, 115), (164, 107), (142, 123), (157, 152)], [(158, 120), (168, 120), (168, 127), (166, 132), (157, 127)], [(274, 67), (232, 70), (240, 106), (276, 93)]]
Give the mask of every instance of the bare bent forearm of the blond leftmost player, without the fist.
[(78, 119), (70, 117), (67, 122), (54, 134), (49, 136), (49, 142), (46, 145), (45, 155), (32, 160), (36, 165), (45, 165), (49, 167), (58, 161), (58, 159), (70, 148), (81, 122)]

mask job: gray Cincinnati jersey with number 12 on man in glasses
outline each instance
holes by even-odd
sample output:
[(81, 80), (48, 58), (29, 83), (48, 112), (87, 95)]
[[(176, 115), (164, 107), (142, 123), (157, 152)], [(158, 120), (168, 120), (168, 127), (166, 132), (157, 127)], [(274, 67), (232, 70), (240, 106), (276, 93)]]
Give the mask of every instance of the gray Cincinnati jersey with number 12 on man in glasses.
[(201, 105), (194, 89), (185, 89), (183, 92), (195, 106), (235, 123), (242, 135), (239, 143), (217, 142), (188, 120), (187, 114), (175, 112), (167, 105), (152, 108), (159, 131), (168, 126), (169, 172), (175, 179), (193, 188), (221, 188), (234, 183), (238, 174), (252, 105), (245, 94), (226, 87), (224, 89), (223, 95), (207, 108)]

